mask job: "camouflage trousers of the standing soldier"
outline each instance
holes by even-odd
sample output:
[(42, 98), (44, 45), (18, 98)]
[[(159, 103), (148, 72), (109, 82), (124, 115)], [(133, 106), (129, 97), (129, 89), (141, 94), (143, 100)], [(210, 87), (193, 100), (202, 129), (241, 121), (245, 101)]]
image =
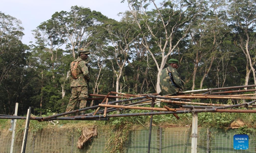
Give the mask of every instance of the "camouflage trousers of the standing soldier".
[[(66, 112), (73, 111), (75, 109), (76, 104), (79, 104), (79, 109), (85, 108), (88, 98), (88, 88), (87, 86), (83, 87), (72, 87), (72, 93), (68, 102), (68, 106), (66, 108)], [(85, 111), (81, 111), (80, 113), (84, 113)]]

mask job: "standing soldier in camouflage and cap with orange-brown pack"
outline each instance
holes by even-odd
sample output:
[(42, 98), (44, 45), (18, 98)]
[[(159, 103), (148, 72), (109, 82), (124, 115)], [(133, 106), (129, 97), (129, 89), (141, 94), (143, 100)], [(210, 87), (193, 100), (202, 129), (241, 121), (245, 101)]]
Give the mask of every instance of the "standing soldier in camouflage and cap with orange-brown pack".
[[(86, 107), (86, 98), (88, 98), (88, 81), (89, 77), (89, 67), (85, 60), (87, 60), (90, 52), (86, 48), (81, 48), (78, 50), (78, 58), (70, 63), (70, 87), (72, 88), (72, 93), (69, 99), (69, 103), (66, 112), (73, 111), (75, 109), (76, 103), (79, 104), (79, 109)], [(84, 111), (80, 112), (80, 115), (84, 115)]]

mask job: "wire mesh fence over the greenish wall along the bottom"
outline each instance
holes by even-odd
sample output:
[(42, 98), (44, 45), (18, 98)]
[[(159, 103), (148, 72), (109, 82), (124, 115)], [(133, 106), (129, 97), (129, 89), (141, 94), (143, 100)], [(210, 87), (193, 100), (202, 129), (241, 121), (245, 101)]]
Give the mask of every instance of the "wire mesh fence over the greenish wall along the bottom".
[[(28, 133), (26, 153), (98, 153), (109, 152), (108, 139), (114, 131), (98, 129), (98, 135), (84, 144), (83, 149), (76, 147), (81, 132), (76, 129), (56, 128)], [(255, 133), (249, 135), (249, 148), (247, 150), (233, 149), (233, 136), (237, 130), (216, 130), (198, 128), (197, 153), (255, 153)], [(9, 153), (11, 148), (11, 131), (0, 131), (0, 153)], [(130, 131), (124, 143), (125, 153), (148, 152), (148, 128), (138, 128)], [(21, 152), (23, 132), (17, 131), (14, 139), (14, 153)], [(191, 153), (191, 128), (159, 128), (153, 127), (151, 131), (150, 153)]]

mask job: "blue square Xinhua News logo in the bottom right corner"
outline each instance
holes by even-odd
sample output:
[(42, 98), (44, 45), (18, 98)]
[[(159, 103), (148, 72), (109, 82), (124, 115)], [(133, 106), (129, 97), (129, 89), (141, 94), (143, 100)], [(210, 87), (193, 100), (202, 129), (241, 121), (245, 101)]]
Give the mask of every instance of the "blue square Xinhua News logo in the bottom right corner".
[(234, 135), (234, 149), (246, 150), (249, 148), (249, 136), (248, 135)]

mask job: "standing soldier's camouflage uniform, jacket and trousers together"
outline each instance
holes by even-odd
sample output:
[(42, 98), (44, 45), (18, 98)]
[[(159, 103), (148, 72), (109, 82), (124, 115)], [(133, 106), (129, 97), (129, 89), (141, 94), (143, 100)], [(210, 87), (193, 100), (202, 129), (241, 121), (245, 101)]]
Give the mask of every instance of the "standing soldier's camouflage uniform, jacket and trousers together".
[[(70, 76), (70, 87), (72, 87), (72, 93), (69, 99), (69, 103), (66, 112), (73, 111), (75, 109), (76, 103), (79, 103), (79, 109), (86, 107), (86, 98), (88, 98), (88, 80), (89, 80), (89, 70), (88, 64), (80, 57), (78, 57), (75, 62), (79, 61), (77, 65), (77, 79)], [(71, 64), (70, 64), (71, 70)], [(70, 73), (71, 74), (71, 73)], [(84, 113), (81, 111), (80, 113)]]

